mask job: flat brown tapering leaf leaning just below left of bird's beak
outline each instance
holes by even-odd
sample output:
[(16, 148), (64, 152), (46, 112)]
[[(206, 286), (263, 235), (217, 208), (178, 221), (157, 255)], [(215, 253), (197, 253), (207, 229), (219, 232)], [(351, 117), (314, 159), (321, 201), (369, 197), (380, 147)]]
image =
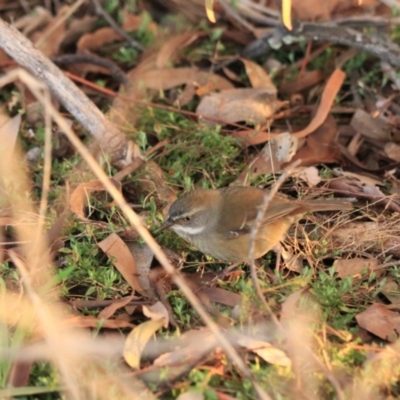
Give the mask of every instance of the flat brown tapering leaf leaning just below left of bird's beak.
[(97, 245), (110, 257), (115, 268), (118, 269), (132, 289), (146, 296), (147, 293), (139, 280), (135, 259), (126, 243), (116, 233), (112, 233)]

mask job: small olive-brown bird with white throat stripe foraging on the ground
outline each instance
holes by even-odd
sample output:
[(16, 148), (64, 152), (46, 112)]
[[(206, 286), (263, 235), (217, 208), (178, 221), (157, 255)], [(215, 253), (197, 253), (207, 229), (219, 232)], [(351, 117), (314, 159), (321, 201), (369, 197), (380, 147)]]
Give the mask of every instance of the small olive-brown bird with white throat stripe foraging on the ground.
[[(172, 203), (158, 231), (171, 228), (202, 253), (225, 262), (249, 262), (250, 235), (265, 189), (230, 186), (195, 189)], [(296, 200), (280, 193), (270, 201), (254, 240), (258, 259), (282, 241), (290, 226), (307, 212), (351, 210), (338, 199)]]

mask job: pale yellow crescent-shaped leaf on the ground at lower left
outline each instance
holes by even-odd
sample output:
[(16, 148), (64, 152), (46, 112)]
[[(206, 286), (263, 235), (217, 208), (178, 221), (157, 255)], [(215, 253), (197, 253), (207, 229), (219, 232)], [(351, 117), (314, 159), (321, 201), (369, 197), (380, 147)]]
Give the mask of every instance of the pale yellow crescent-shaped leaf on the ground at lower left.
[(165, 324), (164, 319), (146, 321), (134, 328), (126, 338), (124, 359), (132, 368), (140, 368), (140, 357), (150, 338)]

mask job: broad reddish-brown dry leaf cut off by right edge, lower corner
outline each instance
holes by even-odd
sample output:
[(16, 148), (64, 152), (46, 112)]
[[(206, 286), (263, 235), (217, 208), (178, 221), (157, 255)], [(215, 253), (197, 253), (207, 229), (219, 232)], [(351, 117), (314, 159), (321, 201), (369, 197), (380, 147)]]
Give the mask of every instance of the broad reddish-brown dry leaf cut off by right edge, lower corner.
[(361, 328), (373, 333), (381, 339), (394, 342), (400, 332), (400, 314), (388, 310), (382, 304), (372, 304), (365, 311), (356, 315)]

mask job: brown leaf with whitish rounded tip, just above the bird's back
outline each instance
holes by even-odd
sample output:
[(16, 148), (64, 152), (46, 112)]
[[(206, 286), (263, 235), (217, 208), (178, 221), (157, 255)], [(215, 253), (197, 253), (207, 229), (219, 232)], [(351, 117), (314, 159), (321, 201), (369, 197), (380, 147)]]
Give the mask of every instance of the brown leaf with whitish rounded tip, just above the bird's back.
[(279, 134), (263, 147), (235, 182), (244, 184), (249, 178), (278, 172), (295, 155), (297, 146), (296, 137), (288, 132)]

